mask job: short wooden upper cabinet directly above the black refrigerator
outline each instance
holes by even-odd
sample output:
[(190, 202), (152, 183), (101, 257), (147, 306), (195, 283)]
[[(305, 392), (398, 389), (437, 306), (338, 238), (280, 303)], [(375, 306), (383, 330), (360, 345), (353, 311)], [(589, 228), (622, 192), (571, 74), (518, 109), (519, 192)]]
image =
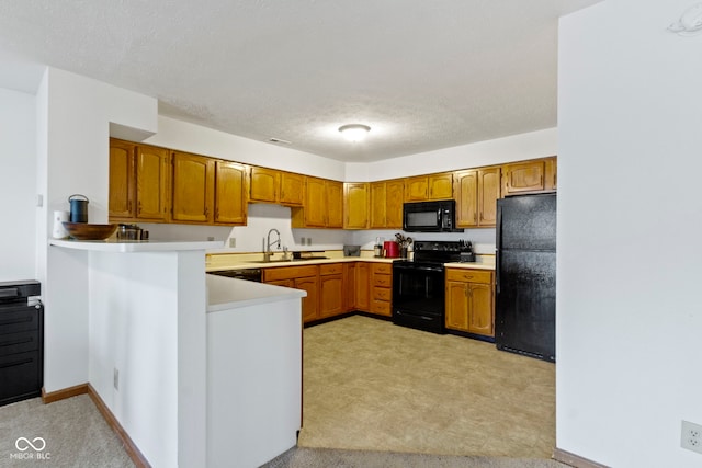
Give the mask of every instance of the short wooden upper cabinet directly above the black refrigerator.
[(502, 165), (502, 196), (555, 189), (555, 157)]

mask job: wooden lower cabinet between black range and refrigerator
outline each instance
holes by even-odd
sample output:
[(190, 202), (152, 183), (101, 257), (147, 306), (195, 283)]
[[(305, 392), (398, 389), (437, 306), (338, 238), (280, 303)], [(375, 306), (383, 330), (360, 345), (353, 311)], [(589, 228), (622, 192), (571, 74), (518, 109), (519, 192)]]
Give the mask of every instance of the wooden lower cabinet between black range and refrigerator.
[(446, 269), (446, 328), (495, 336), (494, 284), (491, 271)]

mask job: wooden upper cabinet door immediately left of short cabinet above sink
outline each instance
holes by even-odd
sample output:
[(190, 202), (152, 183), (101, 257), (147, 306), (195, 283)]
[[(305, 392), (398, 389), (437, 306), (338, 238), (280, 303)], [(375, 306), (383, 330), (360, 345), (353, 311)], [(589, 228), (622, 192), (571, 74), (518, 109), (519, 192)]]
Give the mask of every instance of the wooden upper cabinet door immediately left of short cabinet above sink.
[(215, 222), (246, 225), (247, 217), (246, 165), (216, 161), (215, 164)]

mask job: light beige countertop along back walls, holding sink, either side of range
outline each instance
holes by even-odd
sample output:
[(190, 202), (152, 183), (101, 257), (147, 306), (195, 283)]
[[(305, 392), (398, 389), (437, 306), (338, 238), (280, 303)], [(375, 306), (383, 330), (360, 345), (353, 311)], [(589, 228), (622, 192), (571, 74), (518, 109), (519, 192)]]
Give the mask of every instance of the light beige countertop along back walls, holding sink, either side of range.
[[(341, 262), (372, 262), (372, 263), (393, 263), (396, 260), (405, 259), (381, 259), (371, 255), (364, 255), (365, 252), (361, 252), (361, 256), (343, 256), (341, 251), (326, 251), (315, 252), (316, 256), (327, 256), (327, 259), (314, 259), (314, 260), (290, 260), (281, 261), (282, 254), (276, 253), (273, 256), (272, 262), (262, 262), (262, 253), (216, 253), (208, 254), (205, 261), (206, 272), (216, 272), (222, 270), (236, 270), (236, 269), (272, 269), (276, 266), (301, 266), (301, 265), (320, 265), (327, 263), (341, 263)], [(369, 252), (371, 253), (371, 252)], [(478, 255), (480, 258), (480, 255)], [(489, 260), (492, 260), (490, 258)], [(466, 270), (495, 270), (495, 264), (486, 262), (471, 262), (471, 263), (446, 263), (446, 267), (466, 269)]]

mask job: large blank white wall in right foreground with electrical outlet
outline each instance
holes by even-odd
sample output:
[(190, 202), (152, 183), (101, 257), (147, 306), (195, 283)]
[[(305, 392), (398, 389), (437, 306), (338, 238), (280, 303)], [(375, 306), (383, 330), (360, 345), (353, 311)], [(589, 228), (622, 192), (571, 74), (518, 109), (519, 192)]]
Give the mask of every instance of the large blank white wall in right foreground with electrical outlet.
[(702, 466), (702, 35), (666, 31), (690, 4), (561, 21), (557, 446), (613, 467)]

